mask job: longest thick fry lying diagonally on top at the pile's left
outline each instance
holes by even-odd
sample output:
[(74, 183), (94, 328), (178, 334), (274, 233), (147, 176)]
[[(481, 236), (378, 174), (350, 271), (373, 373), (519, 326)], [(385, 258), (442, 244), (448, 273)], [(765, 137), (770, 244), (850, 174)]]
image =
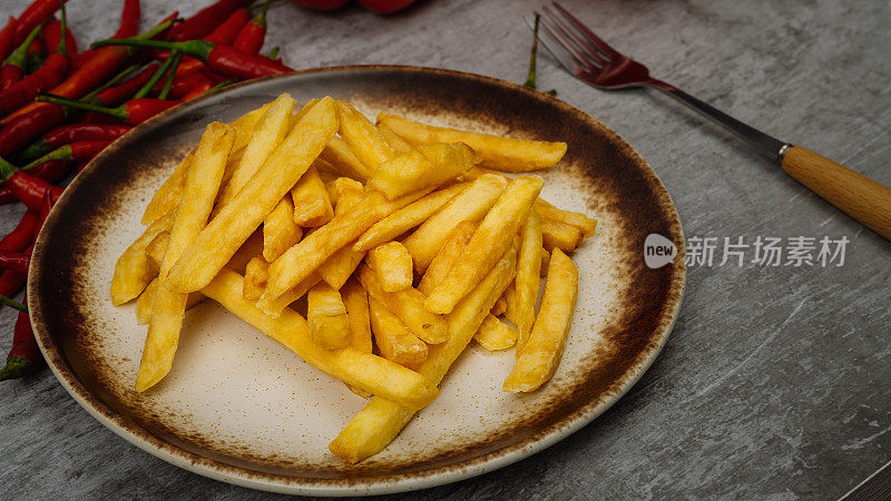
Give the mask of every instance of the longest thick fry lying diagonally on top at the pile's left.
[[(225, 266), (235, 250), (312, 165), (334, 136), (336, 128), (337, 117), (333, 100), (324, 98), (294, 126), (284, 143), (251, 178), (251, 183), (198, 234), (170, 271), (170, 288), (193, 292), (210, 283), (214, 275)], [(272, 271), (270, 274), (273, 276)], [(296, 285), (297, 282), (300, 281), (290, 285)], [(290, 287), (281, 287), (276, 297), (287, 288)]]

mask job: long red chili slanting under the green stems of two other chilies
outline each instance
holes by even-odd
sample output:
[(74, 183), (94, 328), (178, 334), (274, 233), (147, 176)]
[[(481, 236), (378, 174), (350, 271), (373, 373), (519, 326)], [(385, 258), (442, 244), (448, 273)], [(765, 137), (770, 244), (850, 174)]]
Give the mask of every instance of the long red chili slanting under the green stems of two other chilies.
[[(158, 35), (163, 35), (173, 24), (173, 19), (175, 19), (176, 16), (178, 16), (178, 13), (174, 12), (168, 17), (167, 20), (153, 28), (148, 32), (140, 35), (135, 39), (125, 40), (145, 40)], [(50, 92), (67, 98), (77, 98), (84, 96), (90, 89), (97, 87), (102, 80), (107, 79), (108, 76), (111, 75), (124, 61), (129, 59), (134, 52), (135, 50), (133, 49), (124, 49), (120, 47), (111, 47), (109, 49), (98, 50), (95, 52), (95, 56), (84, 63), (82, 67), (69, 75), (65, 81), (56, 86), (52, 90), (50, 90)], [(7, 125), (18, 117), (47, 106), (48, 105), (41, 102), (32, 102), (27, 105), (0, 120), (0, 125)], [(43, 130), (41, 130), (41, 132)], [(0, 155), (3, 154), (0, 153)]]

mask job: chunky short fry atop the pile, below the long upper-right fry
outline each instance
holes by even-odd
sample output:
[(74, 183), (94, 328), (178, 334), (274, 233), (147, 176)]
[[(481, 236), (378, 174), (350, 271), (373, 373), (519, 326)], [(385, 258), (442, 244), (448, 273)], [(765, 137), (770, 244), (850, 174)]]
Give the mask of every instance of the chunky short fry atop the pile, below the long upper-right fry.
[(393, 199), (424, 188), (435, 188), (453, 180), (478, 161), (467, 145), (421, 145), (383, 161), (374, 170), (368, 187)]

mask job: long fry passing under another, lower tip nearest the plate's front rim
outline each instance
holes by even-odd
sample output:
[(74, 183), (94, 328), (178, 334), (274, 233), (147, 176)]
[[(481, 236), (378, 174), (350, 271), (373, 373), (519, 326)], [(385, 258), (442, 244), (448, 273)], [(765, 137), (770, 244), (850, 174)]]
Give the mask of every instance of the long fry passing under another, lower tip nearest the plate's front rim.
[[(480, 285), (449, 314), (448, 341), (430, 346), (427, 360), (418, 370), (428, 381), (439, 384), (470, 343), (486, 318), (486, 312), (492, 308), (513, 276), (516, 256), (517, 252), (511, 247)], [(344, 460), (356, 463), (386, 448), (413, 415), (413, 410), (375, 396), (350, 420), (346, 428), (329, 444), (329, 449)]]

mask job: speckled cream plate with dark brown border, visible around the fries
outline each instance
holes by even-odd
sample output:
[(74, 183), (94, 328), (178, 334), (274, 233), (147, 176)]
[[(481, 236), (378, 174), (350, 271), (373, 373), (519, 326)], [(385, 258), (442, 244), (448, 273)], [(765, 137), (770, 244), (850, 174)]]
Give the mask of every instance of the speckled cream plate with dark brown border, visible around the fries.
[[(229, 121), (284, 91), (301, 102), (346, 99), (370, 117), (389, 110), (569, 144), (566, 158), (541, 173), (542, 197), (594, 215), (598, 227), (572, 256), (580, 271), (578, 307), (548, 384), (532, 394), (502, 393), (512, 351), (473, 345), (443, 380), (440, 397), (385, 451), (350, 465), (327, 443), (364, 400), (208, 301), (187, 313), (170, 374), (145, 394), (131, 390), (146, 328), (137, 325), (133, 303), (111, 305), (116, 258), (141, 232), (150, 195), (206, 124)], [(677, 244), (673, 265), (645, 265), (644, 239), (652, 233)], [(140, 449), (255, 489), (398, 492), (518, 461), (589, 423), (627, 392), (677, 316), (683, 242), (674, 204), (646, 161), (603, 124), (555, 98), (454, 71), (329, 68), (231, 88), (119, 139), (49, 216), (35, 248), (29, 303), (40, 347), (66, 390)]]

